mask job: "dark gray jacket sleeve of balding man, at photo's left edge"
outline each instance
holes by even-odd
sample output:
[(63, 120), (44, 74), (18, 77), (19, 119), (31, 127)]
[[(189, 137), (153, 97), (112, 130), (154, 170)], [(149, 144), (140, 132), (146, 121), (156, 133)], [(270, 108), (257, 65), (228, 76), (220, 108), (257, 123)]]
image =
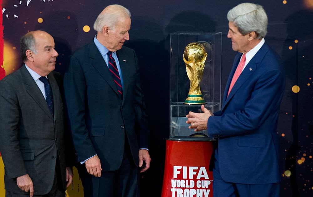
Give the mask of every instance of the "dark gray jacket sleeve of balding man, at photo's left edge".
[(18, 141), (20, 123), (18, 98), (5, 79), (0, 82), (0, 151), (8, 179), (28, 174)]

